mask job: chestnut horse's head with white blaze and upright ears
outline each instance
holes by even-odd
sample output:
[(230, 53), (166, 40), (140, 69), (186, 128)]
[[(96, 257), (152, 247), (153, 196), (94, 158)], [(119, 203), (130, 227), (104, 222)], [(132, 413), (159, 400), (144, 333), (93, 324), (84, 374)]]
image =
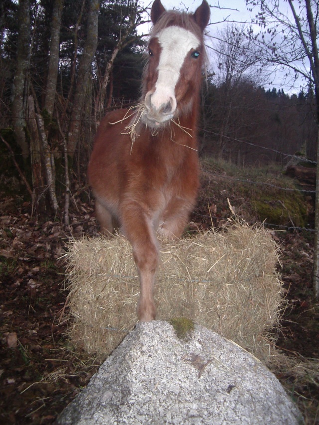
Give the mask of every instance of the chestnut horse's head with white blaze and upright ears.
[(154, 1), (142, 115), (147, 126), (157, 128), (181, 112), (190, 112), (201, 81), (203, 31), (209, 17), (206, 0), (194, 14), (166, 12), (160, 0)]

